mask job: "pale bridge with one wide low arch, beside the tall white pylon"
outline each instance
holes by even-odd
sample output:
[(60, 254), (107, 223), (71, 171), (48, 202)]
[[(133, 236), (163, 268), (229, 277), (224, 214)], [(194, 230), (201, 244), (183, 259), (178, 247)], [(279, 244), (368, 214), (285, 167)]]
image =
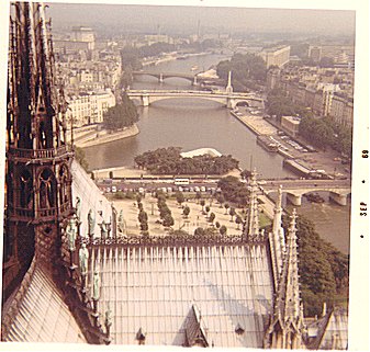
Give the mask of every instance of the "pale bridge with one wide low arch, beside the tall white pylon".
[(138, 99), (142, 106), (149, 106), (152, 103), (165, 99), (173, 98), (199, 98), (218, 102), (228, 109), (235, 109), (238, 103), (246, 103), (248, 106), (264, 107), (264, 100), (255, 93), (229, 93), (210, 92), (197, 90), (130, 90), (127, 95)]

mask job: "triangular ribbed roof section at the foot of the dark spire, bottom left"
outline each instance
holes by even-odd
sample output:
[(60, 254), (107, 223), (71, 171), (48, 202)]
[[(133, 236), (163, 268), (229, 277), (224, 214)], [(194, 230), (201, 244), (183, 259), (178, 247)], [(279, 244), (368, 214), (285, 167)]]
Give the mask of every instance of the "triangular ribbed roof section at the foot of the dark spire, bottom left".
[(2, 340), (87, 342), (52, 275), (35, 260), (3, 307)]

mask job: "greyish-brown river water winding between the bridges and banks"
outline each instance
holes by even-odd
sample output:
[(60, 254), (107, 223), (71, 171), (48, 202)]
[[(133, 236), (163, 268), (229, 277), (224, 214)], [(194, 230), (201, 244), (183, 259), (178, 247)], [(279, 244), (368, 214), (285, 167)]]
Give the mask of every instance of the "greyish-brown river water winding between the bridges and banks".
[[(184, 60), (148, 66), (145, 70), (157, 72), (197, 72), (227, 59), (221, 55), (194, 56)], [(192, 90), (191, 82), (168, 78), (162, 83), (154, 77), (135, 79), (132, 89)], [(139, 134), (86, 149), (91, 169), (126, 166), (132, 167), (136, 155), (159, 147), (181, 147), (183, 151), (211, 147), (221, 154), (232, 155), (242, 168), (257, 168), (260, 178), (285, 178), (292, 173), (282, 168), (282, 157), (269, 154), (256, 144), (256, 136), (242, 125), (227, 109), (218, 103), (201, 99), (171, 99), (139, 107)], [(348, 253), (349, 206), (339, 207), (328, 203), (304, 204), (298, 209), (314, 219), (316, 230), (323, 238)]]

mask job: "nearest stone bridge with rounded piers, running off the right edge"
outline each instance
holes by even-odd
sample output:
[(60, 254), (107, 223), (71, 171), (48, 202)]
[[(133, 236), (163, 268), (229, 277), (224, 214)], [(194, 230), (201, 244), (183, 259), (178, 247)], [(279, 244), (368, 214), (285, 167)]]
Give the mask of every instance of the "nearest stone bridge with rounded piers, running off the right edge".
[(346, 205), (348, 194), (351, 192), (349, 180), (279, 180), (267, 181), (261, 186), (264, 192), (269, 194), (277, 192), (280, 184), (282, 192), (287, 193), (287, 198), (295, 206), (301, 205), (302, 196), (311, 192), (329, 192), (332, 201)]

